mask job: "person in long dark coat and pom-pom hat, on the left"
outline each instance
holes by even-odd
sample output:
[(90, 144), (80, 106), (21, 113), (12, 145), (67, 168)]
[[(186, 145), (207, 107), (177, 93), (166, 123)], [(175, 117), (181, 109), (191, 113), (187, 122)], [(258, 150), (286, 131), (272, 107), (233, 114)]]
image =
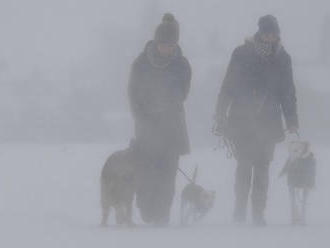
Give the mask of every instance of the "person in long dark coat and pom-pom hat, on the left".
[(137, 206), (145, 222), (168, 224), (179, 157), (190, 151), (185, 120), (191, 68), (179, 24), (165, 14), (131, 70), (129, 98), (141, 154)]

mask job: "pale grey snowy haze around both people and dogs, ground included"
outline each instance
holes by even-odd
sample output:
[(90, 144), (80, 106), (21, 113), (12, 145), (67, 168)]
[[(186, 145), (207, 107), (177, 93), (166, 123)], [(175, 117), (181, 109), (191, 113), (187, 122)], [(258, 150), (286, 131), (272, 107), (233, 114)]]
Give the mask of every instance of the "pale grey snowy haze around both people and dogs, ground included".
[[(127, 92), (131, 66), (166, 12), (180, 23), (179, 43), (193, 73), (185, 103), (191, 155), (181, 164), (188, 173), (199, 164), (200, 181), (217, 190), (217, 206), (191, 231), (99, 230), (102, 165), (134, 136)], [(229, 224), (234, 161), (214, 150), (218, 141), (211, 129), (231, 54), (256, 33), (259, 17), (266, 14), (277, 17), (282, 43), (292, 56), (300, 135), (311, 142), (322, 168), (312, 198), (312, 225), (293, 231), (283, 224), (287, 193), (285, 183), (275, 178), (286, 145), (278, 147), (269, 210), (276, 225), (260, 231), (263, 238), (257, 242), (257, 230)], [(129, 239), (142, 247), (151, 236), (153, 245), (164, 247), (199, 247), (208, 240), (212, 247), (244, 242), (273, 247), (277, 237), (286, 242), (283, 247), (325, 247), (330, 227), (329, 16), (328, 0), (2, 0), (0, 230), (8, 234), (3, 247), (20, 247), (23, 240), (11, 246), (16, 234), (28, 247), (35, 241), (40, 247), (129, 247)], [(178, 191), (185, 184), (179, 178)], [(173, 223), (178, 197), (175, 201)], [(30, 233), (20, 227), (31, 227)]]

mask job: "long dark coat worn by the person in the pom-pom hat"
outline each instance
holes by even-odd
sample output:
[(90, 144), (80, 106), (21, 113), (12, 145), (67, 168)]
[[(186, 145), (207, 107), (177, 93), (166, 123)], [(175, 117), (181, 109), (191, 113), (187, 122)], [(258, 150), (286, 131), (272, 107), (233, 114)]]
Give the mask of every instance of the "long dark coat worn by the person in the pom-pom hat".
[(129, 98), (137, 144), (151, 153), (189, 152), (184, 101), (191, 81), (190, 65), (178, 47), (168, 59), (158, 55), (153, 41), (135, 60)]

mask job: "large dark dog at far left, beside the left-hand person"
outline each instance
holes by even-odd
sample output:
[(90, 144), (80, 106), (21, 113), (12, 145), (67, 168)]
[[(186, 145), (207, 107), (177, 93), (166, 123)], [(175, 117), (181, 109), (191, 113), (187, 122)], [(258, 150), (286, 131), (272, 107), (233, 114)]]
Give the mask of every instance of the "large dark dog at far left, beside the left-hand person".
[(111, 208), (116, 212), (117, 225), (134, 225), (135, 162), (133, 142), (128, 149), (115, 152), (106, 161), (101, 174), (102, 226), (107, 225)]

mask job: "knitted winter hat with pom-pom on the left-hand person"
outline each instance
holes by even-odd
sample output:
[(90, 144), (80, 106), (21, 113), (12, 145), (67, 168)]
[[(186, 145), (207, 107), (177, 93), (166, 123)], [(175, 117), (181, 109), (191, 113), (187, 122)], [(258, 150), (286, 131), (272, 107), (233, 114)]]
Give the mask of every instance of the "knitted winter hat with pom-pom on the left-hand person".
[(174, 15), (166, 13), (155, 32), (155, 42), (177, 44), (179, 42), (179, 23)]

